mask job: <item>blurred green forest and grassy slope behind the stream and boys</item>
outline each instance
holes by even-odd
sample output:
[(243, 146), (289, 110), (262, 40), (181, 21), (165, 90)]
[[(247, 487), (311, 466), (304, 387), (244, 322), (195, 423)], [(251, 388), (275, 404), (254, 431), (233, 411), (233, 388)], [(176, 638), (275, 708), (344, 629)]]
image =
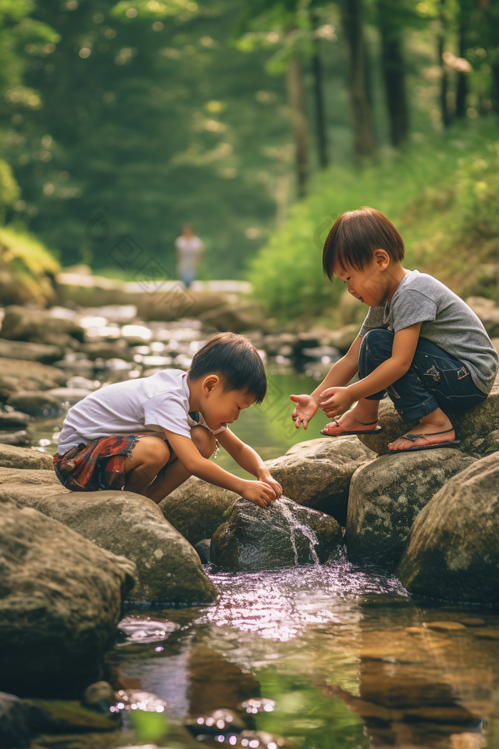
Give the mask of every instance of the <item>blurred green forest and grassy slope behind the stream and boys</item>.
[(370, 204), (499, 300), (498, 112), (499, 0), (0, 0), (0, 265), (119, 276), (101, 214), (174, 273), (192, 222), (200, 278), (326, 319), (321, 242)]

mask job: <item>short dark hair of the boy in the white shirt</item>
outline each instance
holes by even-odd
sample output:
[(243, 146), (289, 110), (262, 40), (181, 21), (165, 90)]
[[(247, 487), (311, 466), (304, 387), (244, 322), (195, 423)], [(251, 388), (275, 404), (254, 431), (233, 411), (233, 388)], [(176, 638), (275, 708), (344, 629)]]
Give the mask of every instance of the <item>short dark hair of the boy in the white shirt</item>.
[(246, 336), (217, 333), (195, 354), (189, 375), (192, 380), (212, 373), (224, 378), (224, 392), (243, 389), (261, 403), (267, 392), (263, 361)]

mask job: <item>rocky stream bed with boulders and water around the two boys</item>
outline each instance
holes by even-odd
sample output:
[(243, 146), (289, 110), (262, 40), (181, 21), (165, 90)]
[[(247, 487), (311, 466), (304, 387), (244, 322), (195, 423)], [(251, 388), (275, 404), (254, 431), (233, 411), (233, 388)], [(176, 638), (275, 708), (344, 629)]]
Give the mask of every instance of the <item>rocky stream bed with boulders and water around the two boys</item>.
[(224, 327), (318, 378), (356, 332), (252, 328), (230, 300), (137, 315), (4, 310), (0, 747), (498, 746), (499, 379), (459, 449), (389, 455), (388, 400), (381, 434), (294, 444), (267, 512), (196, 478), (159, 506), (75, 496), (52, 453), (88, 392), (187, 369)]

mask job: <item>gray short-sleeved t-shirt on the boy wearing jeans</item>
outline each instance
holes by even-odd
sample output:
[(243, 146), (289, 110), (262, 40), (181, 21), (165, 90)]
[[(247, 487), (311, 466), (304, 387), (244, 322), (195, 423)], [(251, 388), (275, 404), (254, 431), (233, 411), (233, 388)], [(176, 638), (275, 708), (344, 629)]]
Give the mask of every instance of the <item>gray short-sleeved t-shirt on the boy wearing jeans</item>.
[(359, 335), (373, 328), (397, 333), (420, 322), (420, 338), (462, 361), (475, 385), (489, 394), (498, 373), (498, 352), (473, 310), (427, 273), (408, 270), (390, 304), (370, 307)]

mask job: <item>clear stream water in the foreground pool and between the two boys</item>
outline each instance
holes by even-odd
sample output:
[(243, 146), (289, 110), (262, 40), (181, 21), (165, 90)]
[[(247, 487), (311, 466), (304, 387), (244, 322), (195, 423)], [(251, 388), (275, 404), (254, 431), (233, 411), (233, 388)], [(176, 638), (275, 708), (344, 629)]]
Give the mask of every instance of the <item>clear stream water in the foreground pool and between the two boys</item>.
[[(319, 373), (284, 364), (269, 360), (266, 400), (231, 427), (264, 459), (325, 423), (294, 428), (289, 395), (310, 392)], [(33, 446), (54, 454), (61, 423), (34, 421)], [(246, 475), (223, 450), (217, 461)], [(128, 607), (109, 678), (156, 694), (177, 718), (274, 700), (245, 716), (248, 728), (296, 749), (499, 748), (499, 612), (416, 600), (343, 548), (325, 565), (206, 571), (220, 591), (209, 606)]]

